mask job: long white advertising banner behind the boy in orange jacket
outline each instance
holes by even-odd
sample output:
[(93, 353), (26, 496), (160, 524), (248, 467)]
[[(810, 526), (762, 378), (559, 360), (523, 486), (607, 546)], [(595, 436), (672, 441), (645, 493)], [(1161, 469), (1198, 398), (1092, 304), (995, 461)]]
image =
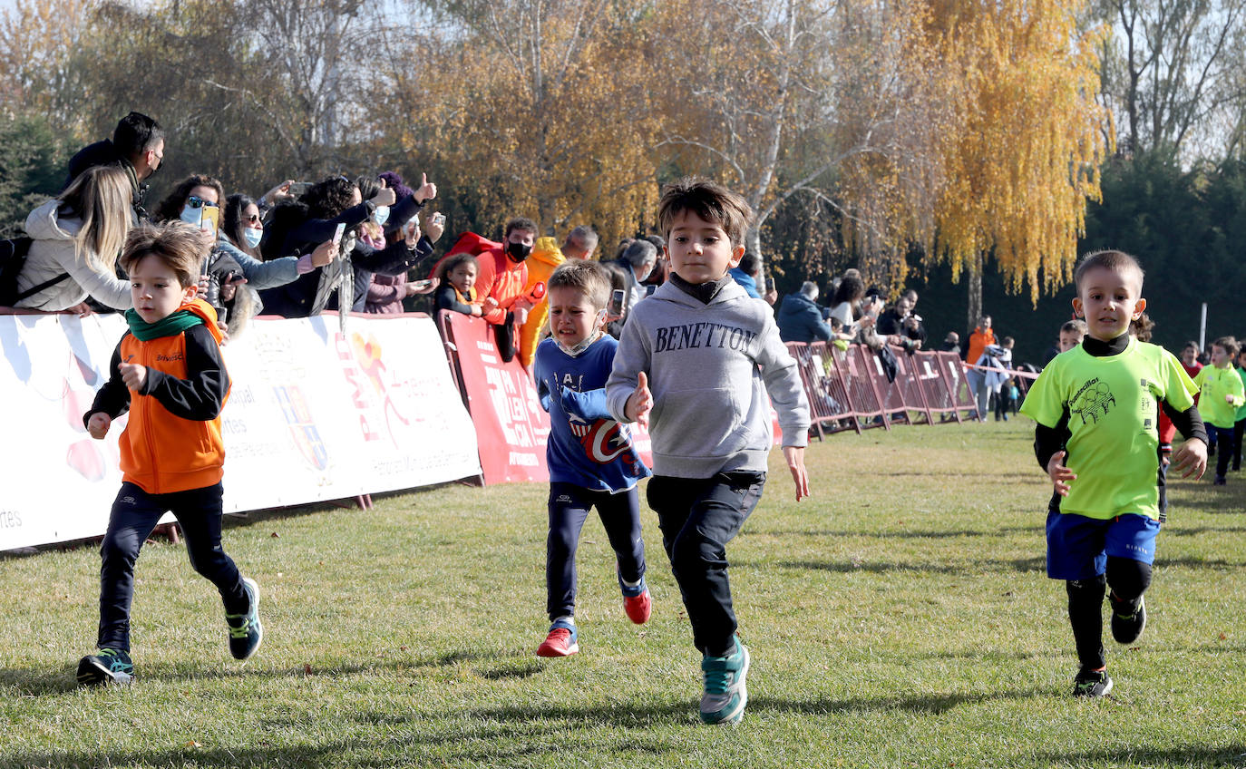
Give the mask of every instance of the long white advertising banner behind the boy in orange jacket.
[[(126, 330), (120, 315), (0, 315), (0, 550), (103, 533), (117, 436), (82, 414)], [(255, 320), (224, 348), (227, 512), (480, 475), (476, 431), (422, 317)]]

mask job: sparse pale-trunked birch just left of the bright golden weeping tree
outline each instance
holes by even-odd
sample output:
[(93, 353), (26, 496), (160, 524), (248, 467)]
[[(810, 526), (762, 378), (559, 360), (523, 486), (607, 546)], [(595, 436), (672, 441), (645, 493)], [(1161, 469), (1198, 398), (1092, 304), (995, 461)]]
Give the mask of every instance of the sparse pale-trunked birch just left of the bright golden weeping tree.
[[(797, 202), (814, 219), (837, 219), (839, 247), (867, 270), (902, 265), (887, 257), (930, 223), (917, 211), (931, 177), (915, 172), (930, 167), (944, 122), (944, 102), (928, 88), (938, 67), (923, 46), (922, 10), (871, 0), (664, 4), (660, 69), (683, 107), (664, 126), (669, 163), (744, 194), (756, 212), (750, 251), (763, 253), (763, 231)], [(806, 246), (826, 242), (802, 229)], [(795, 258), (797, 268), (826, 267), (816, 251)]]

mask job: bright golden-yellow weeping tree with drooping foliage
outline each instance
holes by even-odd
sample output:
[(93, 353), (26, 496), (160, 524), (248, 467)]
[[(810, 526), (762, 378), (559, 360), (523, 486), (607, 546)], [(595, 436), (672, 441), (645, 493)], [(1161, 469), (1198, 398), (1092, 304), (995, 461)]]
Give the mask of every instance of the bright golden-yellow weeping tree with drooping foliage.
[(1106, 115), (1095, 103), (1101, 31), (1079, 0), (932, 0), (930, 32), (961, 71), (961, 127), (944, 156), (936, 256), (969, 273), (968, 328), (983, 262), (1030, 300), (1067, 283), (1088, 199), (1099, 199)]

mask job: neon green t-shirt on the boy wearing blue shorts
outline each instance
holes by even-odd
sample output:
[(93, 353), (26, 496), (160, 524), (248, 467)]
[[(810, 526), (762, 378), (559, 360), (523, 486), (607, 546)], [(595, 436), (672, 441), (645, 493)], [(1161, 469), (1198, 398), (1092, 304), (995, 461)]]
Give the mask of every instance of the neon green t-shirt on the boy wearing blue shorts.
[(1116, 355), (1078, 345), (1047, 364), (1020, 411), (1048, 427), (1067, 423), (1064, 464), (1078, 477), (1060, 512), (1159, 518), (1159, 404), (1185, 411), (1196, 391), (1171, 353), (1136, 339)]

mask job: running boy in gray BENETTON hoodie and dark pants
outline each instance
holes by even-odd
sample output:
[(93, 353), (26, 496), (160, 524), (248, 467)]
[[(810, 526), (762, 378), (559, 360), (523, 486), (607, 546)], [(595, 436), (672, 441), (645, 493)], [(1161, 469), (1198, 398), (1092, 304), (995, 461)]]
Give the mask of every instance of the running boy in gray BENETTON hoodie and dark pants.
[(738, 723), (748, 703), (749, 649), (735, 636), (726, 543), (761, 499), (771, 403), (796, 500), (809, 496), (800, 373), (770, 307), (728, 274), (744, 256), (751, 217), (743, 198), (714, 182), (667, 187), (658, 223), (670, 280), (633, 308), (606, 383), (616, 420), (649, 425), (647, 496), (704, 656), (700, 717), (709, 724)]

